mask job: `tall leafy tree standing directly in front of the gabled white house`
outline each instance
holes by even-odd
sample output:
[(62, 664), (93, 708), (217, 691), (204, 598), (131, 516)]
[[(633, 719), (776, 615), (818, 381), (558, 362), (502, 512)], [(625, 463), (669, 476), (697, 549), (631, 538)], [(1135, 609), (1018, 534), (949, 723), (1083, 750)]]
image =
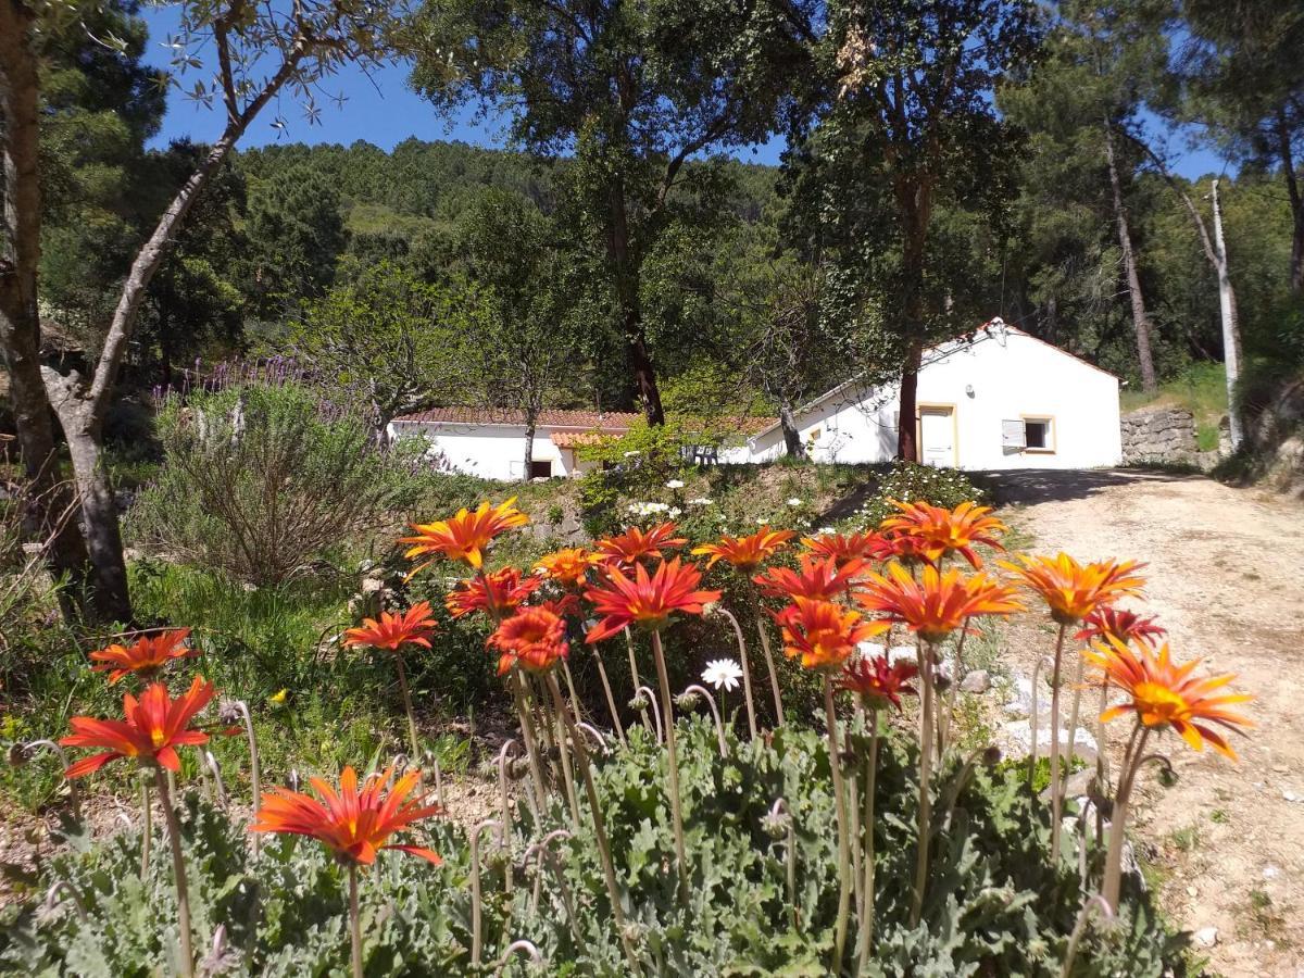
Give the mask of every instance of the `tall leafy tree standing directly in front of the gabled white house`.
[(1031, 3), (838, 0), (819, 44), (819, 123), (802, 147), (802, 205), (831, 287), (900, 366), (897, 454), (918, 459), (914, 419), (925, 348), (971, 329), (990, 245), (1013, 193), (1017, 132), (992, 104), (1031, 57)]

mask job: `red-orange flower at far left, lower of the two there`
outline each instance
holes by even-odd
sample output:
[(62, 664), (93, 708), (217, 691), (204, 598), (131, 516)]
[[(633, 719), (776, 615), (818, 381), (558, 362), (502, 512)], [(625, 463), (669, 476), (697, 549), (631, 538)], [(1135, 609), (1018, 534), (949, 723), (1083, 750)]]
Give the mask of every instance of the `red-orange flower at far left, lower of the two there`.
[(213, 695), (213, 683), (206, 683), (200, 677), (194, 677), (190, 689), (176, 699), (168, 695), (167, 686), (156, 682), (138, 700), (130, 694), (123, 696), (124, 720), (74, 716), (69, 721), (73, 733), (59, 742), (64, 747), (108, 750), (70, 764), (64, 776), (81, 777), (119, 758), (134, 758), (141, 764), (162, 764), (170, 771), (180, 771), (176, 748), (209, 742), (209, 734), (192, 729), (190, 721), (209, 704)]

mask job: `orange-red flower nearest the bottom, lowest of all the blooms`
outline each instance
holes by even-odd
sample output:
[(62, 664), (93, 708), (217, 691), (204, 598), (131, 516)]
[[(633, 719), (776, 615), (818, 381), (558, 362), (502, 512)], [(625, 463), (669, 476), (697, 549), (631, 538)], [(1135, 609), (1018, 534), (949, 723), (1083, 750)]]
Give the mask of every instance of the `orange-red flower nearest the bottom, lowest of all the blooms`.
[(439, 855), (422, 846), (385, 845), (390, 836), (413, 822), (441, 814), (439, 806), (424, 805), (425, 799), (420, 795), (408, 801), (420, 772), (408, 771), (386, 793), (391, 777), (393, 767), (368, 777), (359, 790), (357, 775), (353, 768), (346, 767), (339, 776), (338, 793), (317, 777), (309, 781), (316, 798), (287, 788), (273, 788), (263, 795), (258, 818), (249, 831), (310, 836), (346, 863), (370, 866), (378, 850), (398, 849), (438, 866), (442, 862)]

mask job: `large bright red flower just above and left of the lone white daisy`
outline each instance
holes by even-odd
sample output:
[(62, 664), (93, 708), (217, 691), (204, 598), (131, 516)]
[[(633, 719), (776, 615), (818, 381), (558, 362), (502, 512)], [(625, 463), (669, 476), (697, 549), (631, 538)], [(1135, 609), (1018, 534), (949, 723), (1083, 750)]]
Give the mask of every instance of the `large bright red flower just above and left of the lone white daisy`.
[(675, 557), (664, 561), (652, 576), (642, 563), (627, 578), (618, 567), (606, 571), (606, 587), (592, 587), (584, 597), (602, 621), (588, 630), (584, 642), (592, 644), (610, 638), (629, 625), (661, 629), (675, 612), (702, 614), (704, 605), (720, 600), (719, 591), (700, 591), (702, 571)]

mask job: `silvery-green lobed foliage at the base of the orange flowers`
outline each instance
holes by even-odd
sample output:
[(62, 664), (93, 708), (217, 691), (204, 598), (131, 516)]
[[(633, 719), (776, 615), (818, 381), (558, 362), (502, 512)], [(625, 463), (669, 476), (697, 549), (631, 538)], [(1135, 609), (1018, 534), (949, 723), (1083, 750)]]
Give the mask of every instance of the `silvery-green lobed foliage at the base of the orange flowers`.
[[(837, 883), (824, 738), (789, 726), (776, 730), (772, 742), (730, 739), (729, 754), (721, 758), (708, 724), (689, 720), (679, 729), (687, 901), (681, 901), (675, 874), (668, 871), (674, 850), (662, 792), (664, 751), (636, 729), (631, 746), (600, 762), (597, 771), (615, 872), (644, 969), (827, 974)], [(878, 780), (882, 818), (871, 973), (1058, 975), (1081, 906), (1077, 871), (1067, 862), (1059, 872), (1048, 868), (1045, 806), (1026, 792), (1020, 765), (951, 765), (939, 772), (928, 898), (921, 923), (909, 925), (914, 772), (914, 746), (889, 737)], [(790, 823), (771, 818), (778, 798)], [(181, 808), (196, 945), (211, 948), (223, 926), (224, 974), (325, 974), (348, 960), (344, 876), (321, 846), (267, 840), (253, 857), (236, 820), (193, 793)], [(795, 926), (786, 896), (788, 824), (794, 840)], [(541, 824), (520, 812), (506, 836), (510, 854), (485, 833), (484, 961), (492, 965), (510, 941), (527, 939), (548, 958), (549, 974), (625, 974), (588, 833), (557, 842), (559, 867), (539, 878), (540, 901), (531, 909), (537, 863), (523, 859), (524, 849), (559, 825), (569, 825), (569, 819), (554, 795)], [(172, 971), (177, 925), (168, 861), (155, 859), (141, 880), (134, 831), (95, 842), (74, 835), (70, 842), (39, 880), (25, 882), (30, 896), (4, 910), (0, 968), (142, 977)], [(472, 973), (466, 835), (455, 824), (436, 822), (428, 844), (445, 857), (443, 866), (385, 853), (365, 875), (368, 974)], [(162, 837), (155, 838), (155, 852), (166, 852)], [(1098, 855), (1091, 853), (1093, 859)], [(56, 880), (67, 883), (72, 895), (56, 892), (46, 906), (46, 892)], [(1132, 887), (1115, 926), (1088, 930), (1074, 974), (1184, 975), (1181, 948), (1183, 941), (1164, 930), (1148, 898)], [(519, 964), (511, 968), (526, 973)]]

